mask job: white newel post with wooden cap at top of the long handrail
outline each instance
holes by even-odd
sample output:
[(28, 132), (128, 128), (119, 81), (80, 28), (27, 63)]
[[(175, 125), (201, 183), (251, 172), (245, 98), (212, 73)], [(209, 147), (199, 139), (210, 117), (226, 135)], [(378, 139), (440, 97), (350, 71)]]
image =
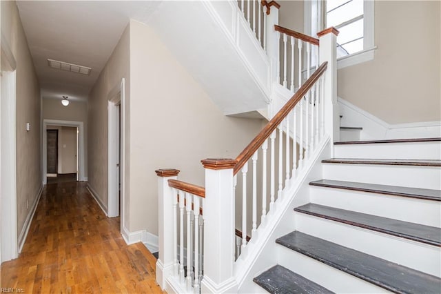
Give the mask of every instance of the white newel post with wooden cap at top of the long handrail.
[(340, 112), (337, 104), (337, 35), (336, 28), (327, 28), (317, 33), (320, 40), (320, 63), (328, 61), (324, 74), (323, 93), (325, 95), (325, 133), (331, 142), (340, 139)]

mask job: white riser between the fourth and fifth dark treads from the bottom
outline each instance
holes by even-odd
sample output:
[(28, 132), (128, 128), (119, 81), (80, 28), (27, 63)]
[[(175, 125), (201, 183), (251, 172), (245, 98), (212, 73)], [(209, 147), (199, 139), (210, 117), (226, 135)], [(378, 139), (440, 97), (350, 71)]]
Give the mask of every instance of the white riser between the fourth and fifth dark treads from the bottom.
[(323, 164), (323, 179), (441, 189), (441, 168), (382, 164)]

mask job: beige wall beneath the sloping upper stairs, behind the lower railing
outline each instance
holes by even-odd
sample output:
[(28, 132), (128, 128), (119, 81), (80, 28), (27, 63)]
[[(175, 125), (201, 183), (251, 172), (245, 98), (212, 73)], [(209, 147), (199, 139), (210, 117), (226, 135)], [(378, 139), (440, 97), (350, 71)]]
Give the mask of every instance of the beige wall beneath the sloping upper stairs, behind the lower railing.
[(204, 185), (201, 159), (235, 158), (257, 135), (258, 119), (225, 117), (154, 31), (130, 30), (130, 231), (158, 234), (158, 168), (178, 168)]

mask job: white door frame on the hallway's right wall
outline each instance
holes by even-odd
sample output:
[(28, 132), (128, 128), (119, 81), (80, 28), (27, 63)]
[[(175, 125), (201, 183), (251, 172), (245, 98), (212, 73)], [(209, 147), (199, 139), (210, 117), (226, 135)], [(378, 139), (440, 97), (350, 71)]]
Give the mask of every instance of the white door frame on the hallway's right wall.
[[(124, 228), (125, 208), (125, 79), (116, 85), (107, 95), (107, 216), (120, 215), (121, 232)], [(119, 106), (119, 109), (118, 109)], [(119, 113), (118, 113), (119, 112)], [(118, 140), (118, 135), (120, 139)], [(118, 144), (118, 146), (117, 146)], [(119, 153), (119, 154), (118, 154)], [(119, 157), (120, 182), (118, 181), (116, 162)], [(120, 190), (120, 197), (117, 191)]]

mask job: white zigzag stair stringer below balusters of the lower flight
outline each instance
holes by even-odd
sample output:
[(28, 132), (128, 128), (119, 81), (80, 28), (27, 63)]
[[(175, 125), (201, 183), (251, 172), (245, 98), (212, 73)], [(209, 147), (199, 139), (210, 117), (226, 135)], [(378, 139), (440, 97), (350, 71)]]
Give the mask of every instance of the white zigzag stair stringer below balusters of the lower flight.
[(263, 288), (253, 282), (253, 278), (274, 266), (276, 239), (292, 231), (295, 225), (294, 208), (310, 202), (309, 182), (322, 177), (321, 161), (330, 156), (331, 148), (329, 137), (322, 139), (320, 147), (309, 158), (310, 164), (299, 171), (294, 181), (291, 179), (289, 187), (283, 190), (281, 201), (278, 199), (273, 213), (267, 215), (267, 223), (259, 226), (258, 240), (250, 240), (245, 259), (242, 255), (237, 259), (234, 272), (238, 293), (265, 293)]

